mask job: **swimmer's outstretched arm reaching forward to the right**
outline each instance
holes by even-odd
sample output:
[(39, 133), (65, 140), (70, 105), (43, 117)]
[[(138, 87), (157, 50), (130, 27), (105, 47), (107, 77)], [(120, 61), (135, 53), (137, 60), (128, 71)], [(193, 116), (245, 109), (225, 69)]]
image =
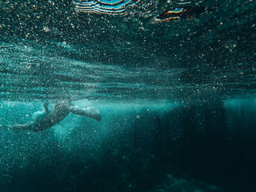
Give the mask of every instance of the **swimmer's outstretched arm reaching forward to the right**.
[(99, 110), (96, 110), (94, 107), (80, 108), (80, 107), (70, 106), (69, 110), (74, 115), (81, 115), (87, 118), (92, 118), (94, 120), (97, 120), (98, 122), (102, 120), (101, 113), (99, 112)]

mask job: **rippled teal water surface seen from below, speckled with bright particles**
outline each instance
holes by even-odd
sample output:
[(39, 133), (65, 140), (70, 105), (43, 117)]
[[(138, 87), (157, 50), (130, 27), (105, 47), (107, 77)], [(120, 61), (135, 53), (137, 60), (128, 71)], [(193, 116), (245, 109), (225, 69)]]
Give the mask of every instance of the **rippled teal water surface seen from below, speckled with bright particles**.
[(256, 1), (95, 2), (0, 1), (1, 99), (255, 94)]

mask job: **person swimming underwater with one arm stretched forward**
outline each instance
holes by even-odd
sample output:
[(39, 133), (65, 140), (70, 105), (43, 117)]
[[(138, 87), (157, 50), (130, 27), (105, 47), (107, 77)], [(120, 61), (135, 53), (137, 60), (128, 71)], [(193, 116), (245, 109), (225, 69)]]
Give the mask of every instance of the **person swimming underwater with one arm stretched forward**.
[(43, 108), (45, 111), (41, 115), (37, 115), (34, 121), (30, 121), (22, 125), (0, 125), (0, 128), (7, 128), (8, 130), (13, 131), (29, 130), (34, 131), (35, 133), (39, 131), (45, 131), (46, 129), (54, 126), (55, 124), (59, 123), (61, 120), (66, 118), (67, 115), (69, 115), (69, 112), (72, 112), (72, 114), (74, 115), (92, 118), (94, 120), (97, 120), (98, 122), (101, 121), (102, 118), (101, 113), (98, 110), (94, 109), (94, 107), (74, 107), (68, 101), (63, 101), (61, 103), (54, 104), (53, 112), (50, 112), (50, 110), (48, 110), (48, 104), (46, 103), (43, 104)]

